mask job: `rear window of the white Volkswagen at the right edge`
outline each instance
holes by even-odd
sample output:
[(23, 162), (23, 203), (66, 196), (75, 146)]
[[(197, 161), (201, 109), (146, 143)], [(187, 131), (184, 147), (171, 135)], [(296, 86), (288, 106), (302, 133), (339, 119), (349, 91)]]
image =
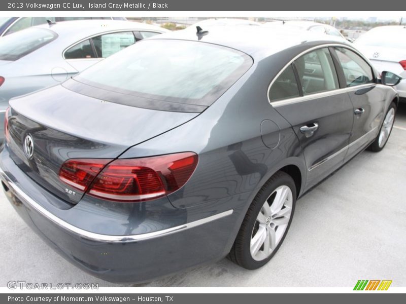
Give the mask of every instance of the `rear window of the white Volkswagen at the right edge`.
[(400, 29), (375, 29), (361, 35), (356, 40), (356, 45), (406, 49), (406, 40), (402, 39), (406, 28)]

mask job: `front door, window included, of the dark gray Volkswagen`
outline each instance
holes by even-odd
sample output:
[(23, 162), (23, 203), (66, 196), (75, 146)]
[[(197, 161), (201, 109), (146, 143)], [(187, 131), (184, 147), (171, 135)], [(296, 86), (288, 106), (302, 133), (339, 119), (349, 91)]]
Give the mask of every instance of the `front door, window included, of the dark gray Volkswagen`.
[(340, 62), (339, 75), (344, 78), (354, 107), (354, 123), (346, 159), (353, 157), (376, 138), (385, 107), (385, 91), (377, 84), (374, 69), (355, 51), (334, 48)]

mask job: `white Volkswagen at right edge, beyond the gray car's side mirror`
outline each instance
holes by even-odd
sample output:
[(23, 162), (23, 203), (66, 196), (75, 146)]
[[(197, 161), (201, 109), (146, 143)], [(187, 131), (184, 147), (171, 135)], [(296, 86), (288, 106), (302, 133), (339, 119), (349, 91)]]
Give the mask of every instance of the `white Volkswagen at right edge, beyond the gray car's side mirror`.
[(400, 100), (406, 102), (406, 26), (379, 26), (362, 34), (356, 47), (372, 62), (378, 71), (391, 71), (402, 77), (395, 87)]

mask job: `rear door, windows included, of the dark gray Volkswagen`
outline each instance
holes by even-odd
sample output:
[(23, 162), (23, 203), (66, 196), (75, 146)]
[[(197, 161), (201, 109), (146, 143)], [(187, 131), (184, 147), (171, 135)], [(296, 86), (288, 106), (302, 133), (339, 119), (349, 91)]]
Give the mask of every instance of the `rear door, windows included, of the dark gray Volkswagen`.
[(353, 106), (340, 89), (328, 48), (310, 51), (287, 66), (270, 86), (269, 100), (300, 141), (308, 169), (306, 188), (343, 164)]

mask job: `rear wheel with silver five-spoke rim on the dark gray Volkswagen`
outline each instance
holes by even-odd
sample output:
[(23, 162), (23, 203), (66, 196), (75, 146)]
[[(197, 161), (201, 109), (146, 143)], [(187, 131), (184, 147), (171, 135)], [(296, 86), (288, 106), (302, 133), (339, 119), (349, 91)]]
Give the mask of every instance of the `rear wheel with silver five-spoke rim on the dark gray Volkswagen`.
[(277, 172), (248, 208), (229, 258), (246, 269), (257, 269), (266, 264), (285, 239), (295, 202), (293, 179), (285, 172)]

